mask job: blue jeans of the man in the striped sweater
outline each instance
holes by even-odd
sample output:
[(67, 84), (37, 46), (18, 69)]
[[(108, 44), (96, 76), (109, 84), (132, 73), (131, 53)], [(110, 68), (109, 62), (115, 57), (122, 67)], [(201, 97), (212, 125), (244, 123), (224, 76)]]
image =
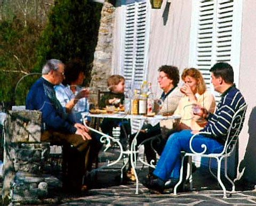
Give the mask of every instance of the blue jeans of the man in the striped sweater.
[[(160, 159), (157, 162), (153, 174), (164, 181), (170, 177), (180, 177), (181, 151), (191, 152), (189, 149), (189, 140), (193, 136), (191, 130), (181, 130), (172, 134), (164, 147)], [(219, 153), (223, 150), (223, 145), (215, 139), (197, 135), (192, 143), (196, 152), (202, 152), (202, 144), (205, 144), (207, 151), (205, 154)]]

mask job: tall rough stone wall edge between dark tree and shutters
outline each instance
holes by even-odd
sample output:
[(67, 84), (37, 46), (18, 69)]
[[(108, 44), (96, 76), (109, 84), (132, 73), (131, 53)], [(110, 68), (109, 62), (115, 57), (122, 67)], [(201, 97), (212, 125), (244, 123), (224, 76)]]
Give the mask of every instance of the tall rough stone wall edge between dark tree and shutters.
[(103, 3), (90, 85), (92, 88), (91, 96), (95, 100), (97, 100), (98, 89), (107, 89), (107, 78), (112, 72), (114, 12), (115, 7), (113, 4), (108, 2)]

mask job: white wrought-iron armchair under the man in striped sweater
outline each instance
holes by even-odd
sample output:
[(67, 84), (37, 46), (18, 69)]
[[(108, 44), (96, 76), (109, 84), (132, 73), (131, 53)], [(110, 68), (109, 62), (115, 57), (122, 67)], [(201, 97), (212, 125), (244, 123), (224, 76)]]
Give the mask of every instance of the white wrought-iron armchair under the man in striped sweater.
[[(187, 179), (189, 179), (190, 189), (192, 189), (191, 158), (193, 156), (201, 156), (203, 158), (210, 158), (210, 160), (209, 160), (209, 170), (210, 170), (211, 174), (215, 178), (218, 179), (218, 182), (219, 182), (219, 184), (220, 184), (220, 186), (222, 187), (222, 190), (223, 190), (223, 198), (227, 198), (227, 189), (221, 181), (221, 161), (223, 159), (225, 160), (224, 174), (225, 174), (225, 177), (227, 178), (227, 180), (232, 185), (232, 191), (230, 193), (235, 193), (235, 184), (234, 184), (233, 180), (231, 180), (227, 175), (227, 158), (233, 153), (233, 151), (236, 147), (236, 143), (238, 142), (238, 135), (239, 135), (239, 133), (242, 130), (242, 127), (243, 127), (246, 108), (247, 108), (247, 105), (244, 105), (234, 114), (233, 119), (231, 121), (231, 125), (228, 128), (227, 139), (226, 139), (225, 145), (224, 145), (223, 150), (222, 150), (221, 153), (205, 154), (205, 152), (207, 151), (207, 148), (206, 148), (206, 145), (204, 145), (204, 144), (201, 145), (201, 147), (204, 149), (203, 152), (201, 152), (201, 153), (197, 153), (193, 149), (193, 146), (192, 146), (193, 139), (197, 135), (202, 135), (202, 134), (210, 135), (209, 133), (199, 132), (199, 133), (197, 133), (197, 134), (195, 134), (191, 137), (190, 142), (189, 142), (189, 147), (190, 147), (190, 150), (192, 152), (191, 153), (182, 152), (184, 154), (183, 154), (182, 160), (181, 160), (180, 179), (179, 179), (179, 182), (173, 188), (173, 194), (174, 195), (177, 195), (178, 186), (182, 183), (183, 162), (184, 162), (184, 159), (186, 158), (186, 156), (188, 156), (188, 175), (187, 175)], [(213, 171), (211, 170), (211, 159), (212, 158), (215, 158), (216, 161), (217, 161), (217, 166), (218, 166), (217, 167), (217, 175), (215, 175), (213, 173)]]

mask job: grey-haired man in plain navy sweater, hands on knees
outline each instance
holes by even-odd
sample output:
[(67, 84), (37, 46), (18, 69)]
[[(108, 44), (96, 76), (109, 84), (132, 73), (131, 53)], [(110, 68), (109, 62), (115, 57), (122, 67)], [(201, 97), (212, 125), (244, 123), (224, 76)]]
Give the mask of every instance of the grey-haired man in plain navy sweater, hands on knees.
[(45, 63), (42, 77), (29, 90), (26, 109), (42, 112), (41, 141), (70, 145), (67, 179), (64, 179), (63, 186), (72, 192), (79, 192), (82, 188), (91, 136), (87, 127), (67, 118), (56, 98), (53, 87), (65, 78), (64, 68), (65, 65), (60, 60), (52, 59)]

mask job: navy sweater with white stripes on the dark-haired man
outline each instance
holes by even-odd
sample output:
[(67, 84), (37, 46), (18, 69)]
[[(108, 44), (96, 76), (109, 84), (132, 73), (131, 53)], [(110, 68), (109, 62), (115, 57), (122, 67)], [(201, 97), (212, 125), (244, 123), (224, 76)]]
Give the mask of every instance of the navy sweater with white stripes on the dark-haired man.
[(221, 94), (214, 114), (209, 114), (207, 125), (200, 131), (211, 133), (212, 138), (216, 138), (220, 143), (225, 143), (227, 131), (231, 124), (235, 112), (245, 105), (245, 100), (241, 92), (235, 85), (229, 87)]

